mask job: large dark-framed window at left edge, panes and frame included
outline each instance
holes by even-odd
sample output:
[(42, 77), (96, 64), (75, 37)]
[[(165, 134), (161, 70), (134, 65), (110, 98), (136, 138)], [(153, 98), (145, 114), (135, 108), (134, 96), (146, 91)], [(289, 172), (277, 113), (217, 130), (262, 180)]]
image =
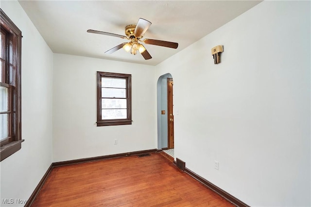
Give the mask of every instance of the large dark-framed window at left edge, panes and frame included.
[(21, 32), (0, 10), (0, 158), (21, 148)]

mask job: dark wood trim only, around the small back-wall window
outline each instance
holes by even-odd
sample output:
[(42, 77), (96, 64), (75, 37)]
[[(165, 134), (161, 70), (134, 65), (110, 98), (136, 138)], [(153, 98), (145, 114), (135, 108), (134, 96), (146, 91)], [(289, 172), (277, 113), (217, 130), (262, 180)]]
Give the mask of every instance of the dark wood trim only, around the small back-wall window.
[[(106, 78), (120, 78), (126, 80), (126, 119), (102, 119), (102, 77)], [(111, 125), (127, 125), (132, 124), (132, 103), (131, 103), (131, 74), (100, 72), (97, 71), (97, 126), (111, 126)], [(112, 97), (111, 99), (115, 99)]]

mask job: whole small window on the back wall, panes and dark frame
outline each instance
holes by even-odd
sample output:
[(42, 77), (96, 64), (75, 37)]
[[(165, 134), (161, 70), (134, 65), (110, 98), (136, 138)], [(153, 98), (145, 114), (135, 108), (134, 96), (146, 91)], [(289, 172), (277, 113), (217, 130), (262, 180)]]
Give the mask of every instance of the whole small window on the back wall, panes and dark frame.
[(131, 75), (97, 72), (97, 126), (132, 124)]

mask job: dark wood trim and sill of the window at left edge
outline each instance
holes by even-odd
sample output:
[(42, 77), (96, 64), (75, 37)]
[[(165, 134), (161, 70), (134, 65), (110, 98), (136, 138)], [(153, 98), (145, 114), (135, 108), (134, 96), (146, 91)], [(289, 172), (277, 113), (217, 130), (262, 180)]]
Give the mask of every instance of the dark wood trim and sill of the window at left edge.
[[(8, 92), (8, 138), (0, 142), (0, 161), (13, 155), (21, 148), (21, 31), (13, 21), (0, 10), (1, 32), (5, 33), (6, 40), (12, 47), (5, 47), (5, 60), (1, 58), (2, 78), (1, 86), (7, 87)], [(8, 45), (8, 44), (6, 44)], [(11, 55), (10, 55), (11, 54)], [(8, 69), (11, 67), (12, 69)]]

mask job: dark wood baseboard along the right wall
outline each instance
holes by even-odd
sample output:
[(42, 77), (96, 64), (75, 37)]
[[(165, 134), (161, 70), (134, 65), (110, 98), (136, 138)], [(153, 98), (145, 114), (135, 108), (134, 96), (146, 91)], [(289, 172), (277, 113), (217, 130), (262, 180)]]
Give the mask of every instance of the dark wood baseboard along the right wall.
[(212, 184), (208, 180), (204, 179), (200, 175), (198, 175), (196, 173), (193, 173), (188, 168), (185, 168), (185, 173), (189, 174), (191, 177), (193, 177), (194, 179), (196, 179), (197, 181), (202, 183), (204, 186), (206, 186), (210, 190), (213, 190), (214, 192), (216, 192), (217, 194), (219, 194), (220, 196), (225, 198), (227, 201), (229, 201), (233, 205), (235, 205), (237, 207), (250, 207), (247, 204), (245, 204), (244, 202), (242, 202), (241, 200), (237, 199), (233, 195), (231, 195), (228, 192), (226, 192), (225, 190), (222, 190), (221, 188), (215, 186), (214, 184)]

